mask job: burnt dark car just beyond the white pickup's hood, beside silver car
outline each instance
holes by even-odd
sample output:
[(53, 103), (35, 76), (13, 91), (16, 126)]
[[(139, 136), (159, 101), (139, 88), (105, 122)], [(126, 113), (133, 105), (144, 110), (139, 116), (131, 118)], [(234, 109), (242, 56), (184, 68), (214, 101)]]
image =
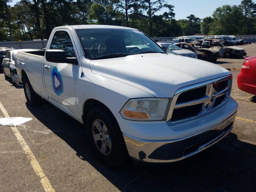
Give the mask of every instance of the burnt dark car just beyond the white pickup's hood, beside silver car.
[(176, 43), (176, 46), (182, 48), (183, 50), (190, 50), (197, 55), (198, 59), (214, 62), (218, 58), (221, 58), (219, 50), (210, 50), (209, 48), (204, 48), (197, 43)]

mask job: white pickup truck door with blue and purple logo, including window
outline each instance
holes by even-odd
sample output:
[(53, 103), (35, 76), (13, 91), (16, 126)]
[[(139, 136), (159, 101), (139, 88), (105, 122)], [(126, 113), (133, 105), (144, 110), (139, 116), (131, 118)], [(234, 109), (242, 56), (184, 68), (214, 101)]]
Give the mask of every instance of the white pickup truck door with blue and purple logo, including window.
[[(67, 57), (78, 58), (74, 40), (67, 29), (55, 30), (49, 45), (47, 50), (64, 50)], [(43, 65), (46, 93), (50, 102), (74, 117), (77, 117), (78, 114), (75, 92), (75, 78), (78, 69), (78, 63), (58, 63), (44, 60)]]

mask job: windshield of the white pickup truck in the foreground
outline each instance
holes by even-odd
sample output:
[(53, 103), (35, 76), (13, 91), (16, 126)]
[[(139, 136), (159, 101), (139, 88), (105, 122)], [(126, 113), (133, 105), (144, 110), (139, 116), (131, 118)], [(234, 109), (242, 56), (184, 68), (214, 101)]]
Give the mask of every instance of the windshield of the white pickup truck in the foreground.
[(111, 58), (141, 53), (165, 53), (144, 33), (132, 29), (76, 29), (86, 57)]

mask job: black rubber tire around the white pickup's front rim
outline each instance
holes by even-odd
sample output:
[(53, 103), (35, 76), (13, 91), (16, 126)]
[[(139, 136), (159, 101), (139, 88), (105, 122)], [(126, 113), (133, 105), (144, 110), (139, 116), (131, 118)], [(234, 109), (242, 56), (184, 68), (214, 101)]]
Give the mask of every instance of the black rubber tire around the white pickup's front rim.
[[(111, 139), (111, 150), (109, 154), (102, 154), (100, 149), (96, 146), (93, 136), (93, 124), (100, 120), (104, 123), (108, 130), (108, 135)], [(88, 112), (86, 120), (87, 140), (92, 153), (106, 166), (118, 166), (128, 159), (128, 152), (124, 143), (124, 138), (116, 118), (105, 106), (96, 106)], [(102, 141), (98, 140), (99, 142)]]

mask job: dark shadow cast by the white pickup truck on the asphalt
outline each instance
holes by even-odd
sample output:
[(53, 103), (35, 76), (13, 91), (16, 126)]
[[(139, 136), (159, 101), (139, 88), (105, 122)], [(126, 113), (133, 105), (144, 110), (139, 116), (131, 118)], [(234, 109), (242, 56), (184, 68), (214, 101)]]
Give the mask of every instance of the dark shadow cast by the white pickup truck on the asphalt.
[(136, 165), (130, 161), (108, 168), (90, 154), (86, 130), (82, 124), (46, 101), (40, 107), (34, 108), (27, 103), (26, 106), (44, 126), (76, 151), (81, 160), (89, 162), (119, 190), (256, 191), (256, 146), (238, 140), (234, 133), (209, 149), (180, 162)]

